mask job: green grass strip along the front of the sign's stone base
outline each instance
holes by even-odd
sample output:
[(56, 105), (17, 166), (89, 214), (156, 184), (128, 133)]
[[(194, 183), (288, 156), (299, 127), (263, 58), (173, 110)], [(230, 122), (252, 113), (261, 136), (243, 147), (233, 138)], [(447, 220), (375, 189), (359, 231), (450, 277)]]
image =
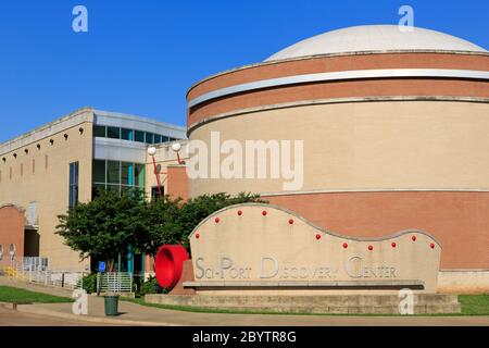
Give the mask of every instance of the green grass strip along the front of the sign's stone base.
[[(121, 298), (124, 301), (133, 303), (154, 307), (161, 309), (170, 309), (185, 312), (203, 312), (203, 313), (229, 313), (229, 314), (277, 314), (277, 315), (360, 315), (360, 316), (388, 316), (393, 314), (333, 314), (333, 313), (286, 313), (272, 311), (243, 311), (230, 309), (209, 309), (193, 306), (174, 306), (147, 303), (143, 298)], [(453, 314), (416, 314), (416, 316), (456, 316), (456, 315), (489, 315), (489, 294), (487, 295), (459, 295), (459, 301), (462, 304), (462, 313)], [(400, 314), (399, 314), (400, 315)]]

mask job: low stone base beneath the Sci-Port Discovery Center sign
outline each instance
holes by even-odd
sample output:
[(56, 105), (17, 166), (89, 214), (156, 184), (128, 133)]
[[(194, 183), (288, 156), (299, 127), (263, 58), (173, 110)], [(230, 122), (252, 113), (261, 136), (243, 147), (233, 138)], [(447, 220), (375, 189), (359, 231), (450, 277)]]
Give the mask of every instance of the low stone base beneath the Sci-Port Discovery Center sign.
[[(415, 294), (413, 314), (460, 313), (455, 295)], [(149, 303), (277, 313), (400, 314), (398, 295), (147, 295)]]

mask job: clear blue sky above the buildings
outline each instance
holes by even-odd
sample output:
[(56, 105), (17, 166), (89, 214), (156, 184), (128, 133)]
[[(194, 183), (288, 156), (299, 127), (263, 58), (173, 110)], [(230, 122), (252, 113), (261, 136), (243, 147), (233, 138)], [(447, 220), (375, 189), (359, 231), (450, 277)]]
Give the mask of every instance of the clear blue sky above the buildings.
[[(72, 10), (88, 9), (88, 33)], [(45, 0), (0, 4), (0, 141), (85, 105), (185, 125), (187, 88), (301, 39), (363, 24), (415, 25), (489, 48), (489, 1)]]

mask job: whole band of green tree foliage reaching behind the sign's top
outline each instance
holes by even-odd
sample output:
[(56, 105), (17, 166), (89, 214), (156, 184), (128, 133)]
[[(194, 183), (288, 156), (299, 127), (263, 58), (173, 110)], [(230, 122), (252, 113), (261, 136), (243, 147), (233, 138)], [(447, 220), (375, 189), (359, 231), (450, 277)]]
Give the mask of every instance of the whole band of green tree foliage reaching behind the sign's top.
[(100, 190), (90, 202), (78, 203), (59, 215), (57, 234), (65, 244), (88, 257), (106, 260), (109, 270), (114, 260), (129, 248), (155, 256), (160, 246), (181, 244), (189, 248), (188, 236), (213, 212), (243, 202), (266, 202), (259, 195), (225, 192), (204, 195), (183, 201), (180, 198), (147, 201), (138, 189), (122, 195)]

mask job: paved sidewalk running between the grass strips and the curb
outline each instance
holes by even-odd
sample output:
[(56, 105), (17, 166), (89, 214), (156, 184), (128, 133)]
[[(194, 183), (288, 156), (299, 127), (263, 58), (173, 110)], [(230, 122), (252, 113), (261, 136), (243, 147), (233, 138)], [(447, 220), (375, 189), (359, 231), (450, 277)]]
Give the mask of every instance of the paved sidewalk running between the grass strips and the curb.
[[(39, 293), (70, 296), (64, 289), (42, 287), (38, 285), (13, 283), (0, 277), (0, 285), (17, 286)], [(17, 307), (22, 313), (63, 318), (71, 321), (83, 321), (110, 325), (240, 325), (240, 326), (300, 326), (300, 325), (484, 325), (489, 326), (489, 316), (347, 316), (347, 315), (284, 315), (284, 314), (222, 314), (192, 313), (164, 310), (120, 301), (120, 315), (104, 315), (103, 298), (89, 296), (88, 314), (72, 314), (72, 303), (22, 304)]]

